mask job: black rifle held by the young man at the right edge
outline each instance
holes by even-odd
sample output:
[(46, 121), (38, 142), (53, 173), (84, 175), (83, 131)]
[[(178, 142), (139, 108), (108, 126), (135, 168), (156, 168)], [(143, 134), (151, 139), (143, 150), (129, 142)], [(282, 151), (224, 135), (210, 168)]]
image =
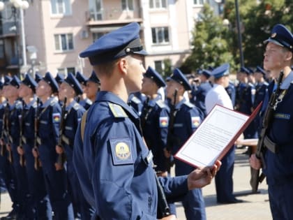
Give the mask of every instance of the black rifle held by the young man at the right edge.
[[(266, 163), (264, 161), (264, 152), (266, 150), (266, 146), (264, 145), (264, 143), (266, 142), (266, 134), (269, 126), (271, 125), (271, 122), (273, 121), (273, 115), (278, 104), (278, 96), (280, 95), (280, 85), (282, 83), (283, 76), (284, 72), (280, 71), (280, 75), (277, 81), (277, 88), (276, 91), (271, 94), (271, 98), (269, 99), (269, 105), (266, 108), (266, 112), (264, 113), (264, 119), (262, 121), (262, 131), (260, 133), (260, 139), (257, 142), (257, 151), (255, 155), (258, 159), (262, 160), (263, 168), (266, 168)], [(250, 185), (252, 186), (253, 191), (257, 191), (258, 183), (261, 183), (264, 178), (265, 175), (263, 173), (260, 175), (260, 170), (253, 173), (250, 180)]]

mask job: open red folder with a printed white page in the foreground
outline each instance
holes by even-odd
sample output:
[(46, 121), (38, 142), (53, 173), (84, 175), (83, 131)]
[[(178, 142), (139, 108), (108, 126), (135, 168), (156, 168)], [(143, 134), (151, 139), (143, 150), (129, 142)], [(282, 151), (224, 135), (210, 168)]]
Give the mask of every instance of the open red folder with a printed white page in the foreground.
[(215, 105), (174, 157), (195, 167), (212, 166), (227, 154), (261, 106), (262, 103), (249, 116)]

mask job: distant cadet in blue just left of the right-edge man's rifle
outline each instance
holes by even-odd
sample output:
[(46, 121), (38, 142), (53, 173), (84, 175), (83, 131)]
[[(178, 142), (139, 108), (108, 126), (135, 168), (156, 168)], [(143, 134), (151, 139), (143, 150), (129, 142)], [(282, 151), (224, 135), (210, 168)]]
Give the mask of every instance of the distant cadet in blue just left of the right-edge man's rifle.
[[(264, 101), (264, 96), (266, 94), (267, 87), (269, 83), (264, 80), (266, 71), (261, 66), (257, 66), (255, 69), (255, 101), (253, 103), (253, 109), (257, 108), (262, 101)], [(262, 124), (260, 121), (260, 114), (254, 119), (255, 126), (257, 128), (257, 133), (260, 135), (260, 130), (262, 129)]]

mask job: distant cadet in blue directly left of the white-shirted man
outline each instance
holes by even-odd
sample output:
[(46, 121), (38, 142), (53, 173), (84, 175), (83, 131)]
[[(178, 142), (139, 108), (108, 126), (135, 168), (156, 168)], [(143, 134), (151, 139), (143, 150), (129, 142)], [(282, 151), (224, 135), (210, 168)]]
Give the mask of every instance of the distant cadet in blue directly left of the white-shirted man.
[(192, 103), (200, 108), (204, 112), (204, 117), (206, 116), (206, 105), (204, 105), (204, 98), (206, 98), (207, 92), (213, 87), (211, 82), (209, 82), (209, 77), (211, 72), (208, 70), (200, 71), (200, 85), (196, 87), (195, 91), (192, 92), (193, 101)]

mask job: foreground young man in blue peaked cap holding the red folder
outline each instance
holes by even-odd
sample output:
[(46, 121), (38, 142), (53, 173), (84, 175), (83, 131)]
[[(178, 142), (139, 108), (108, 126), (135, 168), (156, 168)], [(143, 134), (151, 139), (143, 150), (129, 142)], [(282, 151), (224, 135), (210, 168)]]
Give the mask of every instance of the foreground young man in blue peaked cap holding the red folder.
[[(145, 72), (146, 52), (139, 32), (139, 24), (128, 24), (80, 54), (89, 57), (101, 82), (101, 91), (87, 112), (84, 133), (81, 126), (77, 129), (73, 156), (82, 191), (96, 208), (97, 219), (156, 219), (158, 192), (152, 156), (142, 139), (140, 117), (126, 103), (130, 92), (142, 88)], [(210, 182), (214, 175), (210, 171), (197, 170), (200, 175), (194, 171), (187, 179), (160, 178), (160, 182), (167, 196), (181, 196), (199, 186), (195, 184), (199, 177), (202, 186)]]

